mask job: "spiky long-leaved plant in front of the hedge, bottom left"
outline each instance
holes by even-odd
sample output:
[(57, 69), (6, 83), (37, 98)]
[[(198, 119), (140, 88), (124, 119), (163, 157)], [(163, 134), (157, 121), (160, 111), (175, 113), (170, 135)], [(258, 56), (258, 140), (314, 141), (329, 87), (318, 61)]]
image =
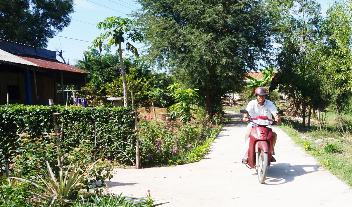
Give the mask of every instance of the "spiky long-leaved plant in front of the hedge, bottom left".
[(44, 193), (33, 192), (37, 196), (29, 201), (38, 201), (40, 203), (46, 201), (48, 204), (47, 206), (51, 206), (55, 201), (58, 201), (59, 203), (70, 201), (72, 193), (75, 192), (80, 185), (83, 185), (80, 183), (82, 176), (87, 173), (88, 170), (92, 169), (97, 162), (99, 162), (99, 160), (95, 161), (83, 172), (81, 168), (78, 167), (78, 163), (73, 166), (71, 162), (64, 172), (63, 170), (60, 170), (61, 172), (59, 172), (59, 176), (56, 178), (55, 174), (52, 172), (49, 162), (46, 161), (48, 173), (43, 171), (44, 176), (37, 175), (44, 185), (34, 180), (24, 179), (21, 177), (9, 178), (29, 182), (37, 188), (42, 189)]

